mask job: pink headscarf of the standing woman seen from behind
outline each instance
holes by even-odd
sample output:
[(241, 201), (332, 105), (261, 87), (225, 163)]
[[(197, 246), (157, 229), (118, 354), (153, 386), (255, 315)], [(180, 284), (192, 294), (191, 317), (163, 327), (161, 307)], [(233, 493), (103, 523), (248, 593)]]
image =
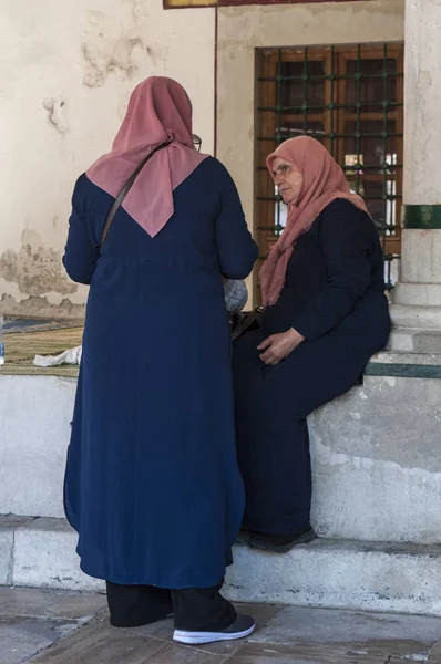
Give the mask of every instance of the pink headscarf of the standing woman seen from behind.
[(122, 207), (154, 237), (174, 212), (173, 190), (207, 158), (193, 145), (192, 104), (185, 90), (163, 76), (141, 83), (129, 102), (112, 152), (86, 172), (89, 179), (114, 198), (154, 147), (173, 141), (145, 165)]

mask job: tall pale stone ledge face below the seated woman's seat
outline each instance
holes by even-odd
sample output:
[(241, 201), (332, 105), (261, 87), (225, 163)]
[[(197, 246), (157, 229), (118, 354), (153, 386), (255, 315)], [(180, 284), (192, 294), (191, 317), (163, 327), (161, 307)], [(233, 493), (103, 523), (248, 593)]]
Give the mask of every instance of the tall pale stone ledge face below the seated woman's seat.
[[(424, 380), (397, 377), (403, 363), (417, 363)], [(311, 518), (321, 537), (441, 543), (435, 364), (434, 356), (382, 353), (368, 367), (377, 375), (310, 417)], [(0, 375), (0, 513), (64, 517), (74, 395), (73, 380)]]

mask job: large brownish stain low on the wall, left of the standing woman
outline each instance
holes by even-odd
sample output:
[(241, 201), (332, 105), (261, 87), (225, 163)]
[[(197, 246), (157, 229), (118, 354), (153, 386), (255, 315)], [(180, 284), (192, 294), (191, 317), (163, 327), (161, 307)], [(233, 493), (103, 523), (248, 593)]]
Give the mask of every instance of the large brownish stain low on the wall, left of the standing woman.
[(0, 257), (0, 277), (17, 283), (20, 291), (29, 295), (76, 292), (76, 284), (64, 272), (61, 251), (44, 247), (42, 237), (34, 230), (24, 230), (21, 242), (20, 251), (8, 249)]

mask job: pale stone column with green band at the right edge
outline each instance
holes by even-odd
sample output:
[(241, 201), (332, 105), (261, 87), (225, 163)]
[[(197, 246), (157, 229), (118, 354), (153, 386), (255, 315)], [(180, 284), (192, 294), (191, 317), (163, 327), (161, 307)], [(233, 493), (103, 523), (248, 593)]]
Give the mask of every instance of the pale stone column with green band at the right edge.
[(441, 0), (406, 0), (404, 228), (393, 351), (441, 354)]

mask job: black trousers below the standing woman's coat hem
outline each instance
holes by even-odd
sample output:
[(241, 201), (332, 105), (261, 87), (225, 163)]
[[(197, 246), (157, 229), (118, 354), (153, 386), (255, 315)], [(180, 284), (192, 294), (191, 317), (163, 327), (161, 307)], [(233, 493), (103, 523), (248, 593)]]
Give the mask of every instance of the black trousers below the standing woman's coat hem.
[(114, 627), (140, 627), (173, 614), (176, 630), (216, 632), (229, 627), (237, 616), (219, 587), (166, 590), (107, 581), (106, 589)]

